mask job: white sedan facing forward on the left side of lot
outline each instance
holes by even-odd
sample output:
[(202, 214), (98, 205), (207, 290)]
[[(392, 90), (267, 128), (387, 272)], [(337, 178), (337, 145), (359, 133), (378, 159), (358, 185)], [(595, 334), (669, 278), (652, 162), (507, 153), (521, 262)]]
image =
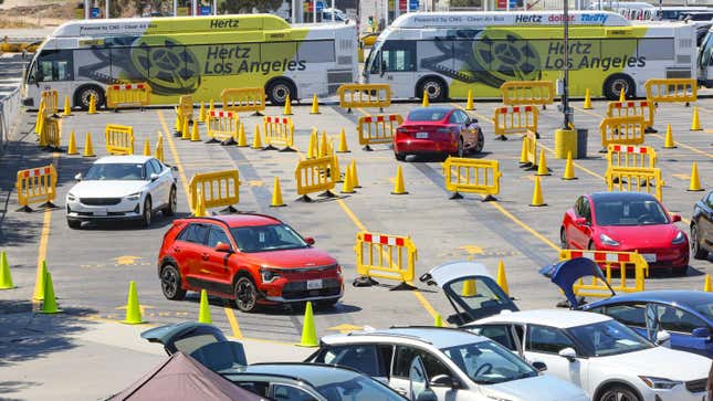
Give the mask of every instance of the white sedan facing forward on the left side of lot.
[(66, 194), (66, 222), (138, 220), (151, 225), (156, 211), (176, 212), (176, 179), (171, 168), (148, 156), (108, 156), (96, 160)]

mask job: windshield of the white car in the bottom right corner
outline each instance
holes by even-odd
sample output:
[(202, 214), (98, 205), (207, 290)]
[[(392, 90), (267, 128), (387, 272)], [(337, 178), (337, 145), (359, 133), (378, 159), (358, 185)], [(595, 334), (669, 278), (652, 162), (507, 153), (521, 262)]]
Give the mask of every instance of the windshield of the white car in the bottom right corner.
[(652, 348), (653, 345), (617, 320), (566, 329), (589, 356), (606, 357)]

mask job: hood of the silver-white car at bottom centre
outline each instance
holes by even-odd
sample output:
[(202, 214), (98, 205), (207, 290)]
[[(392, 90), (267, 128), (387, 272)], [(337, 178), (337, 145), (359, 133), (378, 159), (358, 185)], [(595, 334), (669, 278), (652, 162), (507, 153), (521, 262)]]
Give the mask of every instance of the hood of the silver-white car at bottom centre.
[(585, 401), (589, 400), (584, 390), (554, 376), (506, 381), (481, 387), (491, 398), (522, 401)]

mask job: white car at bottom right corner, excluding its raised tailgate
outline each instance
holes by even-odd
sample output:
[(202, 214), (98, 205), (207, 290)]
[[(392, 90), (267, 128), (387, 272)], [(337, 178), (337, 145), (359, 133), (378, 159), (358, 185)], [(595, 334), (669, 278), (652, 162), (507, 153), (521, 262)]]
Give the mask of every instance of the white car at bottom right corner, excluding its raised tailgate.
[(581, 387), (594, 401), (705, 399), (710, 359), (656, 346), (608, 316), (504, 312), (461, 328), (544, 362), (548, 373)]

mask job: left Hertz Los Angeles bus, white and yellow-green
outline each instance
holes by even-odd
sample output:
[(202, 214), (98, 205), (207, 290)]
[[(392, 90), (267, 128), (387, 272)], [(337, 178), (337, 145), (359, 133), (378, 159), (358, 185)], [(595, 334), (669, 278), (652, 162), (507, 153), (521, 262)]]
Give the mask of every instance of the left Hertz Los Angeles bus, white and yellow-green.
[(220, 98), (228, 87), (264, 87), (282, 105), (334, 94), (357, 78), (355, 24), (290, 25), (269, 14), (75, 21), (59, 27), (32, 60), (27, 106), (44, 89), (88, 107), (111, 84), (147, 82), (151, 104)]

